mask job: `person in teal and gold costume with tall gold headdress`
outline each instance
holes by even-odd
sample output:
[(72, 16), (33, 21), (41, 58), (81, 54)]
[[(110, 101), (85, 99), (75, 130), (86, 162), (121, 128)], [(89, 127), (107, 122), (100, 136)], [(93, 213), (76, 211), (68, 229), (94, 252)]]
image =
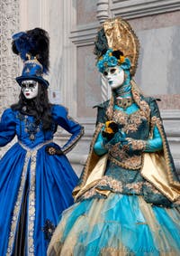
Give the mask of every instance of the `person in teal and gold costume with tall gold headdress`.
[(132, 76), (139, 41), (121, 18), (97, 33), (97, 68), (112, 98), (97, 106), (86, 165), (49, 256), (180, 254), (180, 182), (157, 102)]

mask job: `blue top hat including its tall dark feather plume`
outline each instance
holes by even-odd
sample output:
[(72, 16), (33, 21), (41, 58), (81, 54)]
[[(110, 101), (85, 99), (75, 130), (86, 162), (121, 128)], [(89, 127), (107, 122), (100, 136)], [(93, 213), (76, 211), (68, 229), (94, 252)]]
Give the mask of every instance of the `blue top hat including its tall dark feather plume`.
[(15, 33), (12, 43), (13, 52), (23, 60), (23, 71), (16, 81), (22, 86), (22, 81), (33, 80), (48, 87), (49, 81), (43, 74), (49, 71), (49, 34), (41, 28)]

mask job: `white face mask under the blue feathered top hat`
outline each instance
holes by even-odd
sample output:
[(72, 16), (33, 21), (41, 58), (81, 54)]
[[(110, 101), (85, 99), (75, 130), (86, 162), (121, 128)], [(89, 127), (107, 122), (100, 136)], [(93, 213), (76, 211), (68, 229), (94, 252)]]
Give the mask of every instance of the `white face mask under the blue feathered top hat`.
[(38, 81), (26, 80), (22, 82), (23, 95), (27, 100), (31, 100), (38, 95)]

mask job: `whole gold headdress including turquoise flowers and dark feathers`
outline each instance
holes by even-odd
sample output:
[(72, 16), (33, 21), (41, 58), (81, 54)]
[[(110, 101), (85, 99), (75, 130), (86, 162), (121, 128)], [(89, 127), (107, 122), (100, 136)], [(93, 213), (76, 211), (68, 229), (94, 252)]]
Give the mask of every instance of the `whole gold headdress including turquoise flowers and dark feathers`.
[(103, 72), (106, 67), (130, 61), (130, 74), (135, 74), (139, 57), (139, 40), (130, 24), (120, 17), (105, 21), (97, 33), (94, 54), (97, 67)]

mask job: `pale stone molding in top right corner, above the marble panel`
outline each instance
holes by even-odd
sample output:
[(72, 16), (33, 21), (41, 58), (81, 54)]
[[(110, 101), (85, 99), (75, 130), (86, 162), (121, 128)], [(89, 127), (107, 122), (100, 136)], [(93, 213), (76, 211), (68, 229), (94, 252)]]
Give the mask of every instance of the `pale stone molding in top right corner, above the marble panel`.
[(112, 0), (111, 11), (114, 16), (126, 19), (152, 14), (163, 14), (180, 10), (179, 0)]

